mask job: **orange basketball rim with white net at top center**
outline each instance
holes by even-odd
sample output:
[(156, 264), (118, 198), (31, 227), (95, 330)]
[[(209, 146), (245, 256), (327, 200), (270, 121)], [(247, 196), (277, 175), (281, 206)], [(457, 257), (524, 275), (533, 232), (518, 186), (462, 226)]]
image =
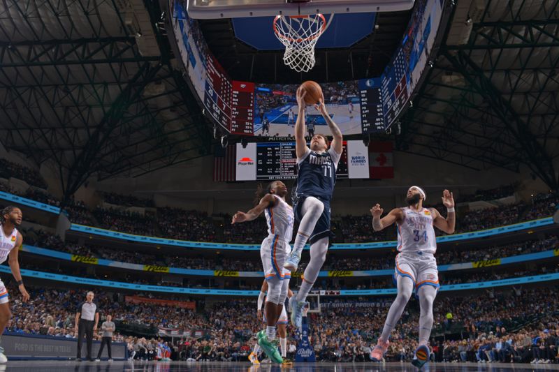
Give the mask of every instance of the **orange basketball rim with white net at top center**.
[(274, 19), (274, 32), (285, 45), (284, 64), (298, 73), (308, 72), (314, 67), (314, 45), (326, 31), (328, 24), (324, 15), (277, 15)]

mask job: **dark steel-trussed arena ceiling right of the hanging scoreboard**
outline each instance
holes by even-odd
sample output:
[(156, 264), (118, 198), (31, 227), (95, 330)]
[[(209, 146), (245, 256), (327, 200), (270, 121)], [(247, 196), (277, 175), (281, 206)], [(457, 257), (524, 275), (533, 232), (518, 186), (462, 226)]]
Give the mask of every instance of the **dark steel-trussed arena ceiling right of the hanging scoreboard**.
[(559, 1), (458, 0), (396, 147), (557, 190)]

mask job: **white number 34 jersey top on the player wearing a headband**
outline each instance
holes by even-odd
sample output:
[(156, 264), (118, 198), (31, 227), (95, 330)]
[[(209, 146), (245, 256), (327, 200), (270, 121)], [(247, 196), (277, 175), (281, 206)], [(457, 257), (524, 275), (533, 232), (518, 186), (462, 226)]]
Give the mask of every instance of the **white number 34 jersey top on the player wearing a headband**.
[(433, 228), (433, 213), (423, 208), (414, 211), (402, 208), (404, 219), (398, 223), (398, 252), (417, 252), (435, 254), (437, 241)]

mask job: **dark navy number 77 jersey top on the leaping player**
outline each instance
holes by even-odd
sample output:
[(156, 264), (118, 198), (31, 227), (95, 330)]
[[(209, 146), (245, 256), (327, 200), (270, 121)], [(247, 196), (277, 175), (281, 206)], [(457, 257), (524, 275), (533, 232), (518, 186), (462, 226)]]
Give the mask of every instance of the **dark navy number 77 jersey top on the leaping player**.
[(330, 201), (340, 156), (341, 154), (337, 154), (332, 148), (320, 154), (307, 149), (305, 156), (297, 160), (297, 196), (314, 196)]

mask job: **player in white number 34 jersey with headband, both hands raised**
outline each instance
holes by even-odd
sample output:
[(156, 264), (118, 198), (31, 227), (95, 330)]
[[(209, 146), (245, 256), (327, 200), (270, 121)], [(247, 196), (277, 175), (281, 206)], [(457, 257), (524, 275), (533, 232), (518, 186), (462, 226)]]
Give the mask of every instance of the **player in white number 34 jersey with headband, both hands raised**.
[(429, 336), (433, 328), (433, 301), (437, 295), (439, 276), (437, 260), (433, 254), (437, 251), (435, 229), (433, 226), (452, 234), (456, 224), (454, 198), (445, 190), (442, 204), (447, 207), (447, 218), (443, 218), (435, 208), (423, 208), (425, 192), (418, 186), (407, 191), (409, 207), (392, 209), (380, 218), (384, 211), (379, 204), (371, 208), (372, 228), (380, 231), (393, 223), (398, 226), (398, 255), (396, 255), (395, 278), (398, 295), (394, 300), (377, 345), (371, 352), (371, 359), (380, 362), (389, 347), (389, 337), (415, 288), (419, 297), (421, 313), (419, 315), (419, 346), (415, 351), (412, 364), (421, 368), (429, 360)]

